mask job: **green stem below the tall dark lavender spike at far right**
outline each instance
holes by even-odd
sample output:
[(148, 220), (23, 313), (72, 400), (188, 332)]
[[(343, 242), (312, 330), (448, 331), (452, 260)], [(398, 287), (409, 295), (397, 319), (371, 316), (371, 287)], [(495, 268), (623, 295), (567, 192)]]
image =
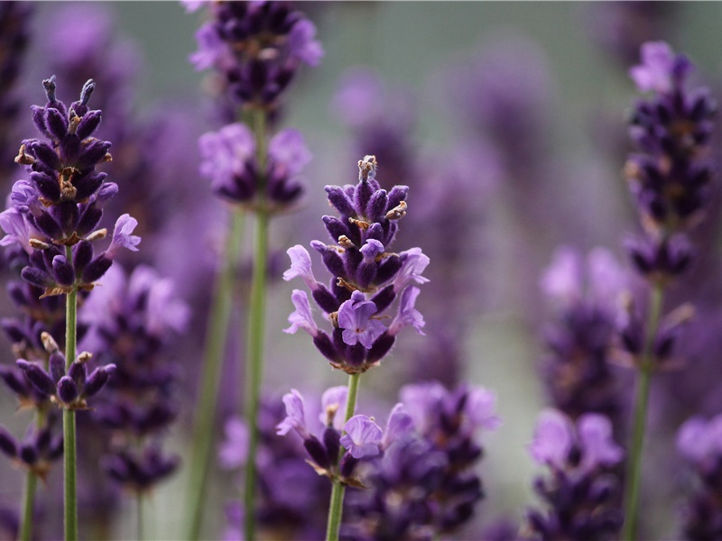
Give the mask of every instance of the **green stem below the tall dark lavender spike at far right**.
[(662, 286), (654, 285), (650, 299), (644, 349), (639, 366), (639, 375), (637, 377), (632, 434), (626, 462), (625, 525), (622, 529), (622, 539), (628, 541), (634, 541), (635, 539), (634, 534), (636, 531), (637, 508), (642, 477), (644, 432), (647, 423), (647, 404), (649, 402), (649, 390), (653, 373), (653, 345), (654, 337), (657, 335), (657, 328), (662, 317), (662, 298)]

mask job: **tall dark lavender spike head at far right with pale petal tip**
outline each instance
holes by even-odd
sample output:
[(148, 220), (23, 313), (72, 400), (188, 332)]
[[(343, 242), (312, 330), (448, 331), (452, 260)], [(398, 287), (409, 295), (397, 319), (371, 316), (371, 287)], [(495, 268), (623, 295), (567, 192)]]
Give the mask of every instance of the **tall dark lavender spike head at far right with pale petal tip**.
[[(692, 64), (663, 41), (642, 46), (642, 63), (630, 70), (637, 87), (650, 96), (634, 105), (630, 135), (639, 151), (625, 165), (625, 176), (650, 238), (631, 246), (645, 274), (679, 274), (661, 268), (667, 244), (699, 222), (708, 206), (713, 166), (710, 139), (717, 105), (707, 87), (689, 89)], [(690, 252), (687, 250), (686, 255)]]

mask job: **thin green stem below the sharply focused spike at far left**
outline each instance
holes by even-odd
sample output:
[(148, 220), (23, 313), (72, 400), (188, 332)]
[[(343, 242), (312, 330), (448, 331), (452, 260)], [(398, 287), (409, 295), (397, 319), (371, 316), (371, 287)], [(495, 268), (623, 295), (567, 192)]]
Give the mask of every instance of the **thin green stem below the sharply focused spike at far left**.
[[(68, 261), (72, 261), (70, 246), (65, 247)], [(65, 369), (75, 360), (78, 314), (78, 290), (73, 288), (65, 302)], [(62, 410), (63, 472), (65, 477), (65, 541), (78, 539), (78, 497), (76, 490), (75, 411)]]

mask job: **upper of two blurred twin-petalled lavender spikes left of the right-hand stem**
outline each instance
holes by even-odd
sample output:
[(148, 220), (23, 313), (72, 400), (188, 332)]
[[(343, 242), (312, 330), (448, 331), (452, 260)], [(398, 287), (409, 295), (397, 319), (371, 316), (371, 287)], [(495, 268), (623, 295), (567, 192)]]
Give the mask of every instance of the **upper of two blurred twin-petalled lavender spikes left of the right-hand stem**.
[(583, 261), (567, 247), (555, 254), (541, 281), (556, 308), (544, 329), (548, 353), (542, 373), (551, 402), (572, 419), (606, 415), (621, 430), (621, 376), (612, 365), (622, 294), (630, 277), (611, 253), (597, 248)]

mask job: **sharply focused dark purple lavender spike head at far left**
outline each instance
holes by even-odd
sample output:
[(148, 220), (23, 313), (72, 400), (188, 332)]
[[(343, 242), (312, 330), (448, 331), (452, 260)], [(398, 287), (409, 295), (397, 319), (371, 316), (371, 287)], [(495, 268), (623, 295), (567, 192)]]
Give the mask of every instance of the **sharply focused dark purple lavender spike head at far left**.
[[(43, 296), (89, 290), (108, 270), (120, 248), (136, 250), (134, 218), (122, 215), (105, 252), (94, 254), (92, 243), (103, 239), (97, 229), (103, 207), (117, 193), (98, 164), (111, 160), (110, 142), (93, 136), (101, 113), (88, 108), (96, 85), (88, 80), (70, 106), (58, 99), (55, 77), (42, 82), (47, 103), (32, 106), (32, 120), (44, 136), (26, 139), (15, 161), (27, 166), (28, 178), (15, 182), (11, 207), (0, 226), (3, 245), (17, 244), (23, 256), (23, 279)], [(63, 249), (64, 247), (64, 249)]]

